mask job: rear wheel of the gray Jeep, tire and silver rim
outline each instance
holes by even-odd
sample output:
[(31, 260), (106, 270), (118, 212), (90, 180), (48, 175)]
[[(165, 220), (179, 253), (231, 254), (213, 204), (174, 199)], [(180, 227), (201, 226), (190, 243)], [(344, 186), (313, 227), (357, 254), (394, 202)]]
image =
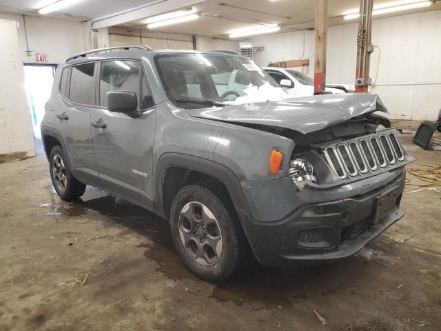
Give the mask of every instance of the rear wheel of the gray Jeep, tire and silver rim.
[(74, 177), (63, 149), (58, 145), (50, 151), (49, 172), (52, 185), (61, 199), (72, 201), (84, 194), (85, 185)]

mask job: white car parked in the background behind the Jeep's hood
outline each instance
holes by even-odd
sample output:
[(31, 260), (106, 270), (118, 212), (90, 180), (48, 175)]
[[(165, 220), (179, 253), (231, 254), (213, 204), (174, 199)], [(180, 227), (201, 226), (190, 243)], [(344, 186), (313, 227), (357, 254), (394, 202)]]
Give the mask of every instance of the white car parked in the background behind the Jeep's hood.
[[(277, 67), (263, 67), (262, 69), (293, 97), (314, 95), (314, 79), (303, 72)], [(353, 86), (346, 84), (327, 84), (325, 90), (337, 94), (353, 92), (353, 89)]]

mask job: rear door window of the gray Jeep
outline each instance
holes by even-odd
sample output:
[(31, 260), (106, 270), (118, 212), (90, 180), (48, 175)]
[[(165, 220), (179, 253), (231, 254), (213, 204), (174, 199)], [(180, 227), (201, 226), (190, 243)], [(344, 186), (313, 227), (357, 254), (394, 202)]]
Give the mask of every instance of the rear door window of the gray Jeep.
[(70, 74), (69, 99), (83, 105), (95, 104), (95, 63), (73, 66)]

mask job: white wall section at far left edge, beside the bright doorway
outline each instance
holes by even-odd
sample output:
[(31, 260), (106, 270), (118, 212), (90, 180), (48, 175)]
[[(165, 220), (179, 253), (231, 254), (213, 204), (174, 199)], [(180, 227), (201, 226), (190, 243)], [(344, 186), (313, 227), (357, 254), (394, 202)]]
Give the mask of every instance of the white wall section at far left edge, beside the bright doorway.
[(24, 88), (17, 25), (0, 19), (0, 155), (25, 152), (35, 155), (29, 106)]

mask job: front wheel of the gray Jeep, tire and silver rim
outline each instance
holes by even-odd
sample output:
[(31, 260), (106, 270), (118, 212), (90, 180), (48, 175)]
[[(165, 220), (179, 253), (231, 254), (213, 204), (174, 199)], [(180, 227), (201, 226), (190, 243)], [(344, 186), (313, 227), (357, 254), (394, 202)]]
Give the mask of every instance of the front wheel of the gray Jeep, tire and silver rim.
[(176, 250), (187, 268), (206, 281), (230, 277), (246, 254), (236, 212), (223, 201), (212, 189), (187, 185), (172, 203), (170, 223)]

